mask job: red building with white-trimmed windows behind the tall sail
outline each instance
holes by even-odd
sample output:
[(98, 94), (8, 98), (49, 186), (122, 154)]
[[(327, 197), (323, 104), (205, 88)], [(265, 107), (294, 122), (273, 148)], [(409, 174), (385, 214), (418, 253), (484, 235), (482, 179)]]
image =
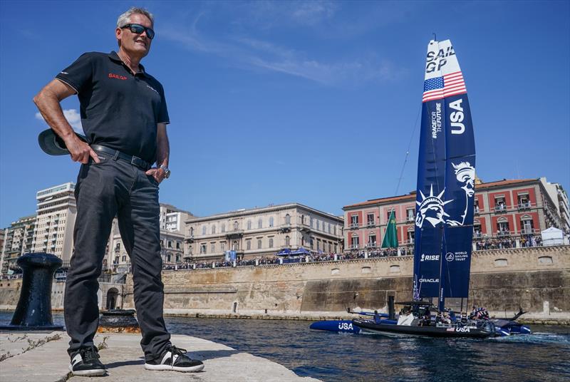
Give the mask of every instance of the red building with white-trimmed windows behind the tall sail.
[[(400, 247), (413, 247), (415, 192), (343, 207), (346, 251), (375, 249), (382, 244), (390, 211), (394, 210)], [(475, 185), (473, 239), (512, 238), (564, 227), (556, 187), (544, 177), (499, 180)]]

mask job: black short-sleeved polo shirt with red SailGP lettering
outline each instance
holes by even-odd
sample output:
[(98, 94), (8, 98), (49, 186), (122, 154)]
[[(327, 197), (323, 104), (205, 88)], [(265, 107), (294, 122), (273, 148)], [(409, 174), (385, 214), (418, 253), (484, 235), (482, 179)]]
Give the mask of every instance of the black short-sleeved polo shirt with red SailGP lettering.
[(164, 89), (145, 72), (133, 73), (117, 53), (84, 53), (56, 78), (77, 93), (90, 144), (147, 162), (156, 160), (157, 123), (170, 123)]

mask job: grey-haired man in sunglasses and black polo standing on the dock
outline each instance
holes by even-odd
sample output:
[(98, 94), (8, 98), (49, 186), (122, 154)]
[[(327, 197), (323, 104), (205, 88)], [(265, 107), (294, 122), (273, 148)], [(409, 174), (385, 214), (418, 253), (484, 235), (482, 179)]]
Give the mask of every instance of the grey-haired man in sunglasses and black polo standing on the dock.
[[(33, 99), (48, 125), (81, 162), (76, 185), (75, 250), (67, 276), (65, 320), (71, 341), (70, 370), (101, 376), (93, 336), (98, 327), (97, 277), (113, 218), (133, 264), (134, 299), (142, 331), (145, 368), (199, 371), (200, 361), (170, 344), (162, 318), (158, 185), (170, 175), (169, 123), (162, 85), (140, 65), (155, 37), (145, 9), (119, 16), (118, 52), (85, 53)], [(78, 94), (88, 143), (78, 139), (60, 101)], [(156, 167), (151, 167), (153, 163)]]

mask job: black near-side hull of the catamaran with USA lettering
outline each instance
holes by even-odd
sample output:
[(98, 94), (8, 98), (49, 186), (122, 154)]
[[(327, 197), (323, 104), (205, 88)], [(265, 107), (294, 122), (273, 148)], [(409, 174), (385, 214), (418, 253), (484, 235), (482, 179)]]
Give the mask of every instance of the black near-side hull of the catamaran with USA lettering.
[(441, 328), (435, 326), (406, 326), (393, 324), (376, 324), (371, 320), (353, 319), (353, 325), (359, 326), (365, 333), (383, 334), (386, 336), (423, 336), (440, 338), (472, 338), (486, 339), (494, 335), (494, 330), (451, 327)]

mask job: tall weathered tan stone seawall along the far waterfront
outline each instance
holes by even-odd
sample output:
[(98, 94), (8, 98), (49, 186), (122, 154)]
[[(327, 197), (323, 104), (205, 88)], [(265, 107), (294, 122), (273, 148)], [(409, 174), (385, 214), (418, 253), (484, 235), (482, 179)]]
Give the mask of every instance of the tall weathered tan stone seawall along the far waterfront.
[[(527, 319), (570, 320), (570, 247), (497, 249), (472, 257), (467, 304)], [(163, 272), (165, 312), (200, 316), (318, 319), (346, 308), (387, 310), (411, 298), (412, 257)], [(125, 308), (133, 307), (132, 279)], [(460, 308), (460, 300), (448, 301)]]

